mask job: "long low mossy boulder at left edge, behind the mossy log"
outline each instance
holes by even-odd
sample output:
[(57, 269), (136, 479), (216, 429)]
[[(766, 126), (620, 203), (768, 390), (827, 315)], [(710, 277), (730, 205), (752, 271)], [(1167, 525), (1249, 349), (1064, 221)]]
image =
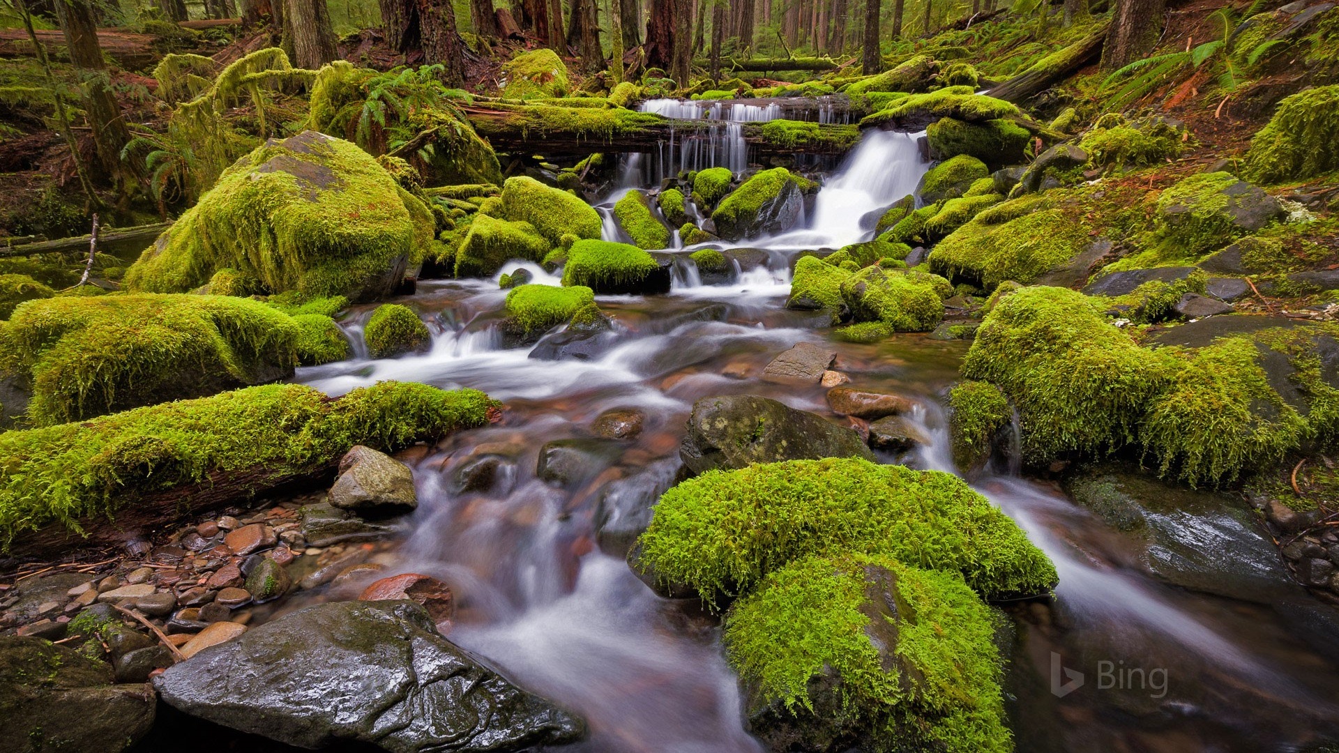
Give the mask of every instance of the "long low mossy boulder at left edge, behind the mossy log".
[(9, 320), (7, 371), (32, 387), (39, 426), (284, 379), (301, 327), (257, 300), (63, 296)]

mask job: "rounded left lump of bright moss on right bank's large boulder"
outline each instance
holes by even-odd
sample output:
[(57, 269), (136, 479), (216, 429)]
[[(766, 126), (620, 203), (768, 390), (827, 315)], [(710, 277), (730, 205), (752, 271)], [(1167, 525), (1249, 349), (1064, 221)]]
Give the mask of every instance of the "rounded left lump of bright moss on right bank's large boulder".
[(1065, 288), (1018, 289), (981, 322), (963, 376), (1018, 407), (1023, 457), (1113, 449), (1135, 437), (1144, 405), (1170, 376), (1166, 356), (1111, 326), (1098, 300)]

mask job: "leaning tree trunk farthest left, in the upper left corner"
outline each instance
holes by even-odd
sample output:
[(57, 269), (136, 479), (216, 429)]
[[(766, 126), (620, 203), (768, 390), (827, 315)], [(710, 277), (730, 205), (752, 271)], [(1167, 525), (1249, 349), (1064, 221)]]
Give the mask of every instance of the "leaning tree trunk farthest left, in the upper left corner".
[(98, 151), (94, 181), (119, 181), (126, 173), (121, 150), (130, 141), (130, 130), (121, 115), (121, 106), (111, 95), (111, 78), (98, 44), (98, 24), (88, 0), (58, 0), (56, 17), (66, 36), (70, 62), (79, 75), (84, 111), (92, 142)]

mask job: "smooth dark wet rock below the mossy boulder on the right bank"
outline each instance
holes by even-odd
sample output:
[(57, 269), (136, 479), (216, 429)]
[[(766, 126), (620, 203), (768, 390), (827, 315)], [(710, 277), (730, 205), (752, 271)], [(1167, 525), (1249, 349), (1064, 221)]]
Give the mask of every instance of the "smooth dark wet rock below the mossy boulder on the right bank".
[(1139, 543), (1157, 577), (1232, 599), (1271, 603), (1296, 587), (1255, 515), (1236, 497), (1184, 489), (1107, 465), (1066, 484), (1077, 502)]

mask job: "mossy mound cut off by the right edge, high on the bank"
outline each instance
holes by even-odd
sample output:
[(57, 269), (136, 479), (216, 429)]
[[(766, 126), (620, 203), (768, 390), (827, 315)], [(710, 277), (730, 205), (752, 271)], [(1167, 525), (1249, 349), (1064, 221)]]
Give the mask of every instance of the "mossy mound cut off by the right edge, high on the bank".
[(1302, 180), (1339, 169), (1339, 84), (1299, 91), (1279, 103), (1251, 139), (1245, 174), (1255, 181)]

